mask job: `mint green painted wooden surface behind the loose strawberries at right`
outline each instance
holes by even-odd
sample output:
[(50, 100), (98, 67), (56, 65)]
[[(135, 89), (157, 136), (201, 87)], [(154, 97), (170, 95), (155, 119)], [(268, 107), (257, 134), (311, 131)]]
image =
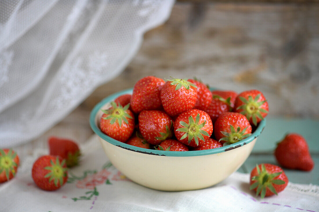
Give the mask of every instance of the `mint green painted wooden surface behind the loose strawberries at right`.
[(258, 137), (256, 145), (246, 162), (238, 170), (242, 173), (250, 171), (260, 163), (278, 165), (273, 151), (276, 143), (286, 133), (296, 132), (306, 138), (310, 153), (315, 161), (311, 172), (284, 169), (289, 181), (294, 183), (312, 183), (319, 185), (319, 121), (311, 119), (285, 119), (267, 117), (267, 124), (263, 133)]

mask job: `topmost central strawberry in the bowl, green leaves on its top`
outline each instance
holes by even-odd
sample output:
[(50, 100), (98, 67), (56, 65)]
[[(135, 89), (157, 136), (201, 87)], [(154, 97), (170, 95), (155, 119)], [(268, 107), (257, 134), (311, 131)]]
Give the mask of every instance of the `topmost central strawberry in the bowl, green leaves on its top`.
[(171, 117), (192, 109), (197, 101), (197, 87), (187, 79), (171, 79), (163, 85), (160, 99)]

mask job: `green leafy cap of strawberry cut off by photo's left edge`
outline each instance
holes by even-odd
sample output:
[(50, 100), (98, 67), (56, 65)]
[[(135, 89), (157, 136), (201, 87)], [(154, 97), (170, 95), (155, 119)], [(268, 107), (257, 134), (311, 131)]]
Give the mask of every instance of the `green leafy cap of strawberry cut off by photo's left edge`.
[(13, 176), (16, 174), (15, 167), (18, 166), (16, 162), (14, 162), (14, 158), (17, 156), (16, 152), (12, 152), (12, 149), (8, 151), (6, 154), (3, 149), (0, 149), (0, 173), (4, 171), (7, 180), (9, 180), (10, 172)]

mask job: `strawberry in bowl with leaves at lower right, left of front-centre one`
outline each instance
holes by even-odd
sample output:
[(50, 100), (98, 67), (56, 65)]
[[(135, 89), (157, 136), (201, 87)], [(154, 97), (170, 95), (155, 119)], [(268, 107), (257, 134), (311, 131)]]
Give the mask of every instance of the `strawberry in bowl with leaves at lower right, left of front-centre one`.
[(147, 142), (158, 145), (171, 138), (173, 119), (159, 110), (144, 110), (138, 115), (139, 130)]

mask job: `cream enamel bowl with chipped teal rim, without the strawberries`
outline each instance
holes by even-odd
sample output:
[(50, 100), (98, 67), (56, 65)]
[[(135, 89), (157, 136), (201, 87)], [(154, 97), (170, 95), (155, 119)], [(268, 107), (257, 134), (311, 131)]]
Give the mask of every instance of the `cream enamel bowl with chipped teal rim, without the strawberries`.
[(210, 187), (235, 172), (248, 158), (266, 120), (259, 123), (251, 136), (224, 147), (173, 152), (144, 149), (117, 141), (100, 131), (99, 123), (109, 102), (132, 89), (108, 96), (91, 112), (90, 125), (111, 163), (130, 180), (156, 190), (183, 191)]

